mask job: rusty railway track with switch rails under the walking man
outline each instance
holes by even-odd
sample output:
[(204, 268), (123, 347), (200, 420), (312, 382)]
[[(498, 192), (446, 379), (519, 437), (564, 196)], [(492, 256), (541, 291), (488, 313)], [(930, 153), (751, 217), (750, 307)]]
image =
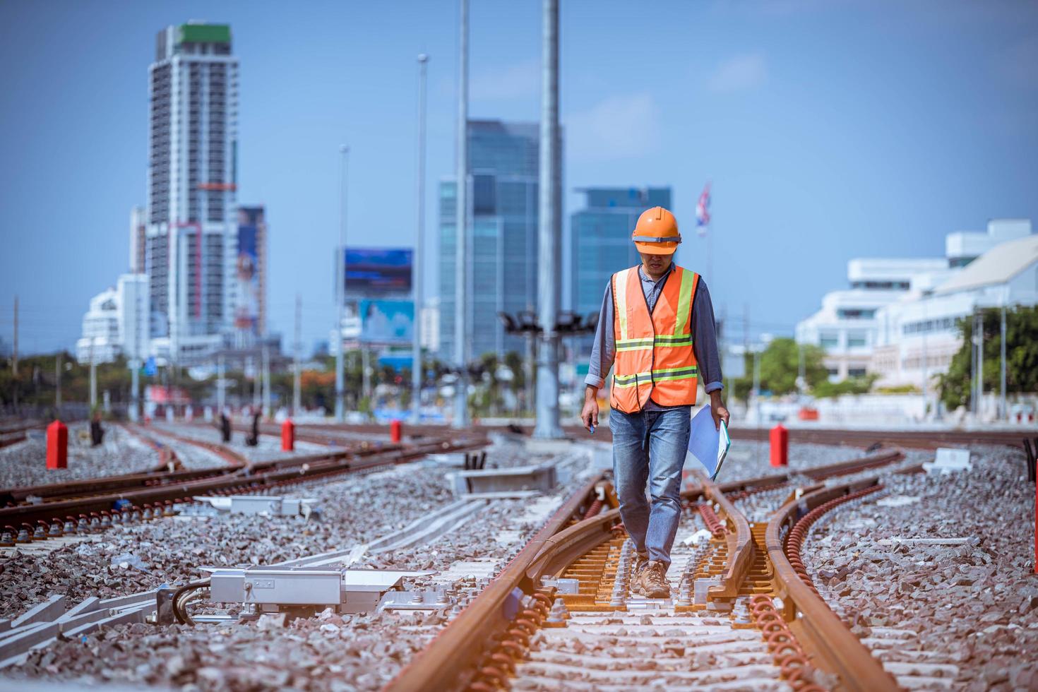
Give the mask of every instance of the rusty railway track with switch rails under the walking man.
[(880, 489), (874, 476), (818, 481), (902, 459), (819, 467), (807, 489), (789, 474), (699, 477), (682, 493), (670, 599), (631, 593), (616, 500), (595, 502), (588, 488), (386, 689), (897, 689), (818, 596), (798, 551), (819, 516)]

